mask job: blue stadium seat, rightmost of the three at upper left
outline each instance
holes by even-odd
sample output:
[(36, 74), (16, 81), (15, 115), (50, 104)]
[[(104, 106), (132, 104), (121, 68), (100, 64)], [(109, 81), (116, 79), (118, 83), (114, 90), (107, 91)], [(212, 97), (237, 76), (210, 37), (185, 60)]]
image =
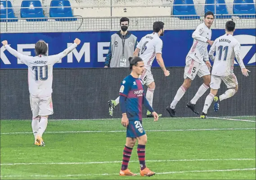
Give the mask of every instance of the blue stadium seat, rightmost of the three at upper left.
[[(50, 8), (50, 17), (74, 17), (72, 14), (72, 9), (70, 8), (69, 0), (52, 0), (51, 7), (58, 8)], [(69, 8), (64, 8), (65, 6), (69, 6)], [(76, 21), (77, 18), (57, 18), (55, 21)]]

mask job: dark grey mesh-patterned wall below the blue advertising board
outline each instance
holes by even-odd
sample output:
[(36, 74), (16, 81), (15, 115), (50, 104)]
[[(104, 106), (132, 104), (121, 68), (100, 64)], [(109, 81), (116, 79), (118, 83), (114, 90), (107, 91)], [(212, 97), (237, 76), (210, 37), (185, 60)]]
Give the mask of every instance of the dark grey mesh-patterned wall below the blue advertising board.
[[(153, 68), (156, 83), (153, 108), (163, 117), (169, 117), (165, 110), (170, 105), (176, 91), (183, 82), (184, 68), (167, 68), (169, 77), (164, 77), (161, 68)], [(248, 66), (249, 77), (243, 76), (240, 67), (234, 68), (238, 79), (238, 93), (220, 103), (218, 113), (209, 108), (209, 116), (255, 116), (256, 109), (256, 66)], [(108, 100), (116, 99), (120, 83), (130, 73), (129, 69), (54, 69), (53, 71), (53, 107), (51, 119), (104, 119), (111, 118), (108, 114)], [(0, 70), (0, 119), (31, 119), (27, 69)], [(194, 116), (187, 107), (202, 85), (202, 78), (193, 80), (192, 86), (176, 106), (177, 116)], [(144, 89), (146, 92), (146, 89)], [(224, 83), (218, 94), (227, 90)], [(210, 90), (198, 100), (197, 109), (202, 111), (205, 98)], [(143, 108), (143, 116), (146, 109)], [(120, 106), (114, 110), (113, 118), (121, 118)]]

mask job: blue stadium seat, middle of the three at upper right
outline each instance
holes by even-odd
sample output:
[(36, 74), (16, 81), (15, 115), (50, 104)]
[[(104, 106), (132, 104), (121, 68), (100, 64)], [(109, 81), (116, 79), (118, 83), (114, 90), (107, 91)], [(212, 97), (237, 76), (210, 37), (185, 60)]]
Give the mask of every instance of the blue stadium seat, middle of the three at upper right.
[[(211, 5), (205, 5), (204, 7), (204, 12), (206, 13), (207, 11), (211, 11), (212, 13), (215, 14), (215, 5), (214, 5), (215, 0), (206, 0), (205, 4), (211, 4)], [(223, 5), (222, 5), (223, 4)], [(221, 14), (221, 15), (216, 15), (215, 18), (217, 19), (229, 19), (231, 18), (229, 14), (227, 6), (225, 5), (225, 0), (216, 0), (216, 14)]]

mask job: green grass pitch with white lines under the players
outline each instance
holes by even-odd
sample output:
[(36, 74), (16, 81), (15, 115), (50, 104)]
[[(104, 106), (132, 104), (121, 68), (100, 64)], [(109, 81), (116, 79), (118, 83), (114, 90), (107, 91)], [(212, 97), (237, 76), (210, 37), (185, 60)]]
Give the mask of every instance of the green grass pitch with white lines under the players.
[[(229, 120), (228, 120), (229, 119)], [(255, 117), (145, 118), (152, 177), (119, 176), (126, 132), (120, 119), (49, 120), (44, 147), (31, 121), (0, 121), (1, 179), (256, 179)], [(244, 121), (247, 120), (247, 121)], [(129, 169), (139, 173), (137, 146)]]

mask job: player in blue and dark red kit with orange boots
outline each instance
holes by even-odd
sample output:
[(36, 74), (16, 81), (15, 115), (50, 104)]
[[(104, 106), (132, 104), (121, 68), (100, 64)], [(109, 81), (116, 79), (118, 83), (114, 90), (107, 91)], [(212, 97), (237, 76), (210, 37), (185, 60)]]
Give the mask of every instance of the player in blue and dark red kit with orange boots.
[(147, 135), (142, 126), (142, 105), (150, 111), (154, 121), (158, 120), (157, 113), (148, 103), (144, 95), (144, 89), (139, 75), (144, 72), (144, 62), (140, 57), (130, 57), (129, 76), (124, 78), (120, 87), (120, 106), (122, 112), (121, 124), (126, 127), (126, 145), (123, 150), (123, 161), (120, 176), (136, 176), (128, 169), (130, 155), (136, 141), (138, 140), (137, 154), (140, 164), (141, 176), (153, 176), (155, 172), (150, 171), (145, 164), (145, 146)]

